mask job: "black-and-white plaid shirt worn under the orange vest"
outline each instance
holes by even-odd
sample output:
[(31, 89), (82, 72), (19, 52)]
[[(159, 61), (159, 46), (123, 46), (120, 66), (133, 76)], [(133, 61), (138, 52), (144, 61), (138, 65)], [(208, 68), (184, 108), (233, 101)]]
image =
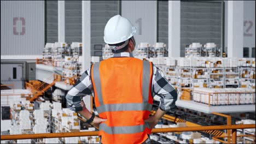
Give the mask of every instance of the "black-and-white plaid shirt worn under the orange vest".
[[(114, 57), (133, 57), (129, 52), (114, 53)], [(159, 108), (162, 111), (175, 109), (177, 92), (164, 77), (161, 70), (153, 64), (152, 96), (160, 101)], [(69, 109), (73, 111), (82, 110), (82, 99), (85, 95), (94, 95), (90, 78), (90, 69), (86, 70), (80, 80), (68, 91), (66, 95)]]

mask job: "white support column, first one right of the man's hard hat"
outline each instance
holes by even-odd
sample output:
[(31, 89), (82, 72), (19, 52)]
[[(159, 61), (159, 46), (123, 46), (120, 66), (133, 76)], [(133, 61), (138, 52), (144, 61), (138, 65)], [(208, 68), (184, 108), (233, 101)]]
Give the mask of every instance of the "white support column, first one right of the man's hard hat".
[(181, 1), (168, 1), (168, 57), (181, 56)]

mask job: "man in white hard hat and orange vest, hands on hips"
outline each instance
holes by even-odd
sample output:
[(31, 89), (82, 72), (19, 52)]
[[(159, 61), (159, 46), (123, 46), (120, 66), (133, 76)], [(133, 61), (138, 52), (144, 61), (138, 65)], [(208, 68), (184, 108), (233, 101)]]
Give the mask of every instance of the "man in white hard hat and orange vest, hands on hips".
[[(69, 108), (98, 128), (102, 143), (149, 143), (148, 134), (166, 111), (174, 109), (177, 92), (152, 62), (132, 56), (132, 23), (116, 15), (104, 29), (113, 58), (95, 63), (66, 95)], [(82, 97), (94, 95), (98, 117), (86, 109)], [(153, 98), (159, 109), (150, 116)]]

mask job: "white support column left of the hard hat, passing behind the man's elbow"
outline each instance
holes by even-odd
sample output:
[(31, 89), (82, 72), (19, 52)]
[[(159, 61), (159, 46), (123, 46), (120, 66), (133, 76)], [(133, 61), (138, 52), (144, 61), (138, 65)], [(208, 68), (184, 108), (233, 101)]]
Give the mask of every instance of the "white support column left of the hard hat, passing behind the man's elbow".
[[(82, 1), (82, 43), (83, 71), (91, 65), (91, 1)], [(91, 97), (83, 98), (86, 108), (91, 111)]]

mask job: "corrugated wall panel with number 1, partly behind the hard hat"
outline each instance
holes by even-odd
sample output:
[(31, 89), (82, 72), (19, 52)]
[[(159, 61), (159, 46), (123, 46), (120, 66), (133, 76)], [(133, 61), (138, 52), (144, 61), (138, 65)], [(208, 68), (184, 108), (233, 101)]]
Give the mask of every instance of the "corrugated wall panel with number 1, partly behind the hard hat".
[(156, 1), (121, 1), (121, 15), (130, 20), (137, 28), (134, 36), (137, 45), (139, 43), (156, 43), (156, 9)]

